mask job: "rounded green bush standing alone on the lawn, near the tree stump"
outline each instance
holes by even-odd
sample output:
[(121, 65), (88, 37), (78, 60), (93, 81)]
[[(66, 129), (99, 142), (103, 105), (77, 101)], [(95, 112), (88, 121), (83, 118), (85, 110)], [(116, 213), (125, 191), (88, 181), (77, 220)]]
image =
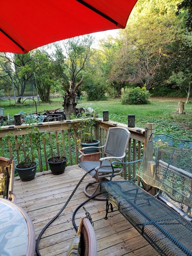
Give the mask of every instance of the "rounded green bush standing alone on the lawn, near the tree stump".
[(149, 91), (145, 88), (125, 88), (122, 89), (121, 104), (123, 105), (137, 105), (137, 104), (149, 104)]

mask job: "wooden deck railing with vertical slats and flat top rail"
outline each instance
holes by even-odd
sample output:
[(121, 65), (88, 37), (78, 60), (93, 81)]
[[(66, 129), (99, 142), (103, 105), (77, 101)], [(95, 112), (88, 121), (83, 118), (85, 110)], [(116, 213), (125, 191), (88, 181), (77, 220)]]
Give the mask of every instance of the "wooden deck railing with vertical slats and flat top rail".
[[(34, 126), (38, 126), (40, 131), (39, 146), (33, 145), (30, 138), (29, 141), (25, 140), (26, 134), (29, 133), (29, 130), (26, 131), (26, 128), (29, 127), (29, 125), (23, 124), (20, 126), (2, 126), (2, 130), (0, 130), (0, 155), (13, 158), (18, 163), (22, 160), (22, 155), (25, 152), (25, 150), (23, 150), (25, 145), (30, 143), (30, 150), (32, 151), (33, 160), (38, 162), (39, 169), (37, 170), (48, 170), (48, 141), (51, 139), (54, 143), (56, 150), (55, 152), (57, 152), (57, 154), (61, 154), (61, 151), (63, 150), (63, 155), (68, 158), (68, 165), (78, 164), (79, 152), (76, 141), (76, 125), (79, 122), (82, 122), (82, 119), (34, 124)], [(153, 132), (154, 124), (146, 124), (145, 129), (138, 127), (128, 128), (127, 125), (122, 123), (113, 121), (104, 122), (103, 119), (96, 118), (95, 139), (100, 140), (101, 146), (105, 144), (109, 127), (115, 126), (125, 127), (131, 132), (131, 138), (127, 150), (127, 159), (125, 160), (134, 161), (140, 159), (143, 154), (143, 150), (146, 147), (149, 136)], [(136, 169), (136, 164), (133, 166), (128, 166), (127, 171), (124, 172), (124, 178), (131, 179), (134, 176)]]

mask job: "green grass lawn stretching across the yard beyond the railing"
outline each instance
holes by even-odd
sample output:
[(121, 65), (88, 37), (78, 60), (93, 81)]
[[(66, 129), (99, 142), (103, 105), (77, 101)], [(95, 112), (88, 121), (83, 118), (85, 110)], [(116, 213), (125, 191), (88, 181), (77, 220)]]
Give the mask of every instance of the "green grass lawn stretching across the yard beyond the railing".
[[(44, 110), (54, 110), (62, 107), (63, 98), (54, 98), (49, 103), (37, 104), (38, 112)], [(145, 128), (147, 122), (155, 123), (155, 132), (166, 133), (176, 138), (186, 138), (192, 140), (192, 104), (185, 104), (186, 114), (177, 114), (179, 101), (185, 101), (183, 98), (151, 98), (147, 105), (122, 105), (120, 99), (109, 99), (107, 101), (86, 101), (82, 98), (77, 107), (91, 107), (99, 117), (102, 117), (103, 110), (109, 110), (109, 119), (127, 124), (128, 114), (135, 115), (135, 126)], [(27, 102), (27, 101), (26, 101)], [(13, 118), (21, 110), (26, 113), (35, 113), (35, 105), (19, 105), (15, 107), (14, 101), (9, 106), (9, 101), (0, 101), (0, 107), (4, 108), (5, 116)], [(31, 101), (31, 104), (33, 102)]]

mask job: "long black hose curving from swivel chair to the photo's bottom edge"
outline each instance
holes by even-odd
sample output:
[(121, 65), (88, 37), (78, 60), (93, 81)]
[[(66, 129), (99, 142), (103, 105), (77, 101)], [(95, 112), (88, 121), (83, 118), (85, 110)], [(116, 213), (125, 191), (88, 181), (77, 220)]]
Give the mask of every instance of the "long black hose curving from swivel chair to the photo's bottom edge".
[[(92, 170), (92, 169), (91, 169)], [(41, 256), (40, 252), (39, 252), (39, 240), (41, 239), (42, 234), (44, 233), (44, 231), (47, 229), (47, 227), (61, 214), (61, 212), (65, 209), (65, 207), (67, 206), (67, 204), (69, 203), (69, 201), (71, 200), (71, 197), (74, 195), (75, 191), (77, 190), (77, 188), (79, 187), (80, 183), (82, 182), (82, 180), (85, 178), (85, 176), (91, 171), (89, 170), (87, 173), (85, 173), (83, 175), (83, 177), (80, 179), (79, 183), (76, 185), (75, 189), (73, 190), (72, 194), (70, 195), (70, 197), (68, 198), (67, 202), (64, 204), (64, 206), (61, 208), (61, 210), (57, 213), (57, 215), (55, 215), (50, 221), (49, 223), (46, 224), (46, 226), (43, 228), (43, 230), (41, 230), (41, 233), (38, 236), (37, 242), (36, 242), (36, 252), (38, 256)], [(94, 196), (93, 196), (94, 197)], [(91, 198), (89, 198), (88, 200), (90, 200)], [(87, 200), (86, 200), (87, 201)], [(86, 202), (85, 201), (85, 202)], [(85, 203), (84, 202), (84, 203)]]

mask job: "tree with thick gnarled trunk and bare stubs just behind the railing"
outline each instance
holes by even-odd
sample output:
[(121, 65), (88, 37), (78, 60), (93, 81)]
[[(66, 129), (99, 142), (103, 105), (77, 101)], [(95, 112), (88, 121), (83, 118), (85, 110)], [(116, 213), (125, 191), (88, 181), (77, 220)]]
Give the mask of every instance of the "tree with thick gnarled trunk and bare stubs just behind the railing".
[(55, 59), (60, 63), (60, 71), (63, 72), (61, 84), (66, 90), (63, 107), (67, 119), (71, 113), (75, 113), (76, 91), (84, 79), (92, 42), (92, 37), (86, 35), (63, 40), (62, 47), (55, 44)]

